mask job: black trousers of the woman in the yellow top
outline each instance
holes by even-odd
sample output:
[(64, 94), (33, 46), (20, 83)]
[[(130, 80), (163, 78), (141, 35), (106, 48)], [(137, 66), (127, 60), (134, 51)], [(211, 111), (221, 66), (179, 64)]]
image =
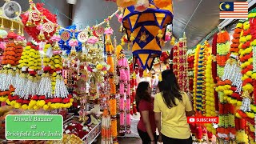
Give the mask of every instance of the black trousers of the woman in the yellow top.
[(177, 139), (177, 138), (169, 138), (162, 134), (162, 142), (163, 144), (192, 144), (192, 137), (187, 139)]

